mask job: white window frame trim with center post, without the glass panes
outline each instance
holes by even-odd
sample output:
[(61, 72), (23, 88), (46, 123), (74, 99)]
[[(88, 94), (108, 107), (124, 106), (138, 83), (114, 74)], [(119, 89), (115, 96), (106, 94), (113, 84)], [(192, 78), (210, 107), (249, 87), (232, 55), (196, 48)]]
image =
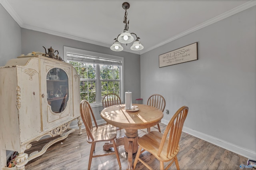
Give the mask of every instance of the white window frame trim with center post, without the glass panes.
[[(63, 60), (67, 62), (68, 57), (67, 57), (67, 53), (79, 53), (82, 55), (86, 55), (86, 56), (92, 56), (92, 57), (99, 57), (99, 58), (106, 58), (106, 59), (113, 59), (113, 60), (118, 60), (122, 62), (122, 68), (120, 69), (120, 93), (119, 93), (119, 97), (121, 99), (121, 102), (123, 103), (124, 101), (124, 97), (123, 97), (123, 91), (124, 91), (124, 57), (119, 57), (116, 55), (109, 55), (109, 54), (104, 54), (104, 53), (97, 53), (97, 52), (93, 52), (93, 51), (87, 51), (84, 49), (77, 49), (77, 48), (72, 48), (72, 47), (66, 47), (64, 46), (64, 56), (63, 56)], [(85, 61), (86, 62), (86, 61)], [(101, 91), (101, 84), (100, 84), (100, 73), (96, 67), (96, 83), (97, 83), (97, 91)], [(100, 101), (101, 99), (101, 93), (97, 93), (96, 94), (96, 101)], [(102, 106), (102, 102), (100, 103), (90, 103), (91, 107), (100, 107)]]

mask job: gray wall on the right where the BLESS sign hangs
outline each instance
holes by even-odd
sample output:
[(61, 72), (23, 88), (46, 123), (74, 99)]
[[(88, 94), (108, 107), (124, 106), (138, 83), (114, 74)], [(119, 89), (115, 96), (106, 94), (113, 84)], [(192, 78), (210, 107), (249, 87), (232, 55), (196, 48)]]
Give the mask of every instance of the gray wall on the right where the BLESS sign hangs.
[[(158, 67), (158, 55), (194, 42), (198, 60)], [(256, 6), (140, 59), (141, 97), (164, 96), (170, 114), (164, 114), (162, 122), (168, 123), (186, 105), (186, 131), (256, 158)]]

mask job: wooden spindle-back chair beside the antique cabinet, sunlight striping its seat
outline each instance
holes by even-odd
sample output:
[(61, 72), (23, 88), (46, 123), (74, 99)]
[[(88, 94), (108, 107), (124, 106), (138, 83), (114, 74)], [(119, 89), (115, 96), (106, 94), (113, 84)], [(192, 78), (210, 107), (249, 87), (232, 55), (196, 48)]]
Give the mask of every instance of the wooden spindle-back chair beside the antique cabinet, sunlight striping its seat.
[[(88, 101), (82, 100), (80, 103), (80, 113), (83, 120), (83, 123), (86, 128), (87, 132), (87, 142), (92, 144), (91, 150), (90, 150), (90, 157), (88, 162), (88, 170), (90, 170), (92, 158), (100, 157), (100, 156), (106, 156), (110, 154), (116, 154), (116, 158), (119, 164), (119, 168), (121, 168), (121, 162), (118, 155), (118, 150), (116, 147), (116, 127), (112, 125), (105, 125), (98, 127), (97, 122), (95, 120), (94, 114), (92, 112), (92, 108)], [(95, 127), (92, 127), (92, 119), (94, 121)], [(95, 150), (96, 142), (102, 142), (102, 141), (111, 141), (114, 146), (114, 152), (108, 152), (105, 154), (99, 154), (99, 155), (93, 155), (93, 152)]]

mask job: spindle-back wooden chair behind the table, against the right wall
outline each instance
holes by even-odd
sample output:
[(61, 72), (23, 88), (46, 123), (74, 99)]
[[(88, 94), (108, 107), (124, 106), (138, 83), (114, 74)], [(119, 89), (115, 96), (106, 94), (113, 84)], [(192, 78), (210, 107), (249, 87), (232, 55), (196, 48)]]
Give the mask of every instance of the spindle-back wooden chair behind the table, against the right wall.
[[(165, 108), (165, 99), (162, 95), (153, 94), (148, 98), (147, 105), (156, 107), (160, 109), (162, 112), (164, 112)], [(159, 132), (161, 132), (159, 123), (157, 124), (157, 127), (153, 126), (154, 128), (158, 129)], [(144, 130), (142, 130), (144, 131)], [(148, 128), (148, 132), (150, 132), (150, 127)]]

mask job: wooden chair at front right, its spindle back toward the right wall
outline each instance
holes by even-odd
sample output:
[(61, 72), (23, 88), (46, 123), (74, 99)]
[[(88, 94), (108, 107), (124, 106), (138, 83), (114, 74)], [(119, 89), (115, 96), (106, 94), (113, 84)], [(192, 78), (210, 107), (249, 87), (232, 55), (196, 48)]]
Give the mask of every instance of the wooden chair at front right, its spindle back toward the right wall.
[(146, 162), (140, 159), (140, 154), (144, 151), (150, 152), (160, 161), (160, 170), (164, 169), (164, 162), (170, 162), (166, 170), (175, 162), (177, 170), (180, 169), (177, 154), (180, 150), (179, 141), (184, 121), (188, 114), (188, 107), (181, 107), (172, 117), (164, 134), (152, 131), (138, 139), (138, 152), (136, 154), (133, 168), (135, 169), (138, 160), (148, 169), (153, 170)]

